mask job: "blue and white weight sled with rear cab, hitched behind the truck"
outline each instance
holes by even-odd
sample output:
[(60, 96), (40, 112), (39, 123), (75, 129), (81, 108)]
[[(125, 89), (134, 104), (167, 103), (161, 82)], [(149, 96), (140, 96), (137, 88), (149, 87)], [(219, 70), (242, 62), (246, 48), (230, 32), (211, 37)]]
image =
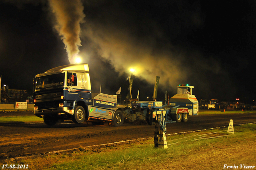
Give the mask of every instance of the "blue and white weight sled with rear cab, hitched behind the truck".
[(136, 101), (132, 104), (134, 114), (127, 114), (125, 111), (124, 117), (131, 121), (145, 119), (151, 125), (156, 121), (156, 115), (163, 114), (167, 123), (187, 122), (188, 116), (198, 115), (199, 110), (198, 100), (192, 94), (193, 88), (188, 84), (180, 84), (177, 86), (177, 94), (167, 104), (162, 101)]

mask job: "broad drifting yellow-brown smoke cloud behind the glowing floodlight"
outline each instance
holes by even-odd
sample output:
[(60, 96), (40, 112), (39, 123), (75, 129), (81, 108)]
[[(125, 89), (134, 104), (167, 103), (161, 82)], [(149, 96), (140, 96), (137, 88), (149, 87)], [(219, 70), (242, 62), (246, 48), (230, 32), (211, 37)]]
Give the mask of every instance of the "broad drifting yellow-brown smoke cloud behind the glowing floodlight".
[[(94, 7), (92, 4), (87, 6), (90, 6), (89, 10)], [(98, 8), (102, 9), (101, 7), (103, 6)], [(91, 12), (94, 11), (88, 12), (88, 16)], [(141, 24), (141, 20), (136, 21), (136, 14), (127, 13), (130, 14), (129, 11), (114, 6), (107, 12), (101, 10), (99, 16), (92, 14), (93, 18), (86, 19), (82, 36), (90, 43), (86, 44), (85, 52), (81, 52), (84, 61), (93, 57), (93, 51), (97, 51), (121, 74), (129, 74), (130, 68), (134, 68), (136, 71), (132, 74), (150, 84), (154, 84), (156, 76), (160, 76), (160, 85), (175, 91), (178, 84), (187, 83), (184, 55), (165, 40), (158, 24), (148, 18), (143, 18)]]

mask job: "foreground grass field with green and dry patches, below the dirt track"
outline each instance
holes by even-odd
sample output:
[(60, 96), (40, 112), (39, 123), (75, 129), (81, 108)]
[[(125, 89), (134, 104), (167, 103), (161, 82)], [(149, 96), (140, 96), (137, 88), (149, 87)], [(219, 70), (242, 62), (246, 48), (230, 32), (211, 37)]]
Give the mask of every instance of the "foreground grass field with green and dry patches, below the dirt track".
[[(256, 169), (256, 124), (166, 136), (168, 148), (154, 148), (154, 139), (5, 160), (2, 164), (27, 164), (31, 170), (218, 170), (225, 166)], [(228, 135), (228, 136), (225, 136)], [(222, 137), (219, 137), (222, 136)], [(211, 138), (214, 137), (214, 138)]]

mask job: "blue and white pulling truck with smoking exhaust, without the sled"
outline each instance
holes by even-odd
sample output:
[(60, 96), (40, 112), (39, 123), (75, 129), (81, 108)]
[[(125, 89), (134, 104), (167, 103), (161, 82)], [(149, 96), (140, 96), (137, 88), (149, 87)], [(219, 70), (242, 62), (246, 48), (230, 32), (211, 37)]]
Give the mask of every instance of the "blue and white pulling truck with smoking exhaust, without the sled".
[(103, 120), (121, 126), (124, 118), (116, 108), (116, 95), (98, 94), (92, 101), (88, 64), (52, 68), (34, 78), (34, 114), (47, 125), (72, 119)]

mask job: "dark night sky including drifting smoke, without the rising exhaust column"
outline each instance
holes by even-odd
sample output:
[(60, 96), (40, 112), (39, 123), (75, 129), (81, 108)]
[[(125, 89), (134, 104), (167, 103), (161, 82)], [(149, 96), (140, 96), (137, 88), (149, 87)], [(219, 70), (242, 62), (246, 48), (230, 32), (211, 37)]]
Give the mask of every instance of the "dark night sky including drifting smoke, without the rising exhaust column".
[[(92, 91), (127, 91), (158, 99), (178, 84), (195, 86), (200, 99), (252, 102), (256, 94), (256, 2), (254, 0), (82, 0), (79, 47), (89, 64)], [(36, 74), (69, 64), (65, 45), (46, 0), (0, 1), (2, 85), (32, 92)]]

